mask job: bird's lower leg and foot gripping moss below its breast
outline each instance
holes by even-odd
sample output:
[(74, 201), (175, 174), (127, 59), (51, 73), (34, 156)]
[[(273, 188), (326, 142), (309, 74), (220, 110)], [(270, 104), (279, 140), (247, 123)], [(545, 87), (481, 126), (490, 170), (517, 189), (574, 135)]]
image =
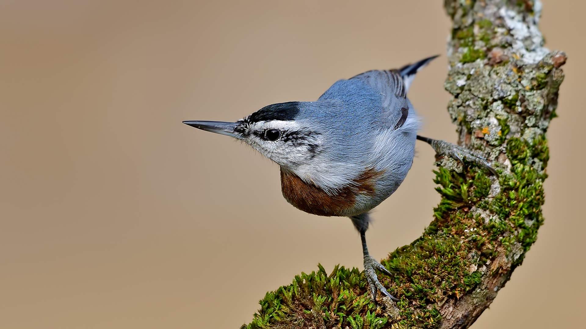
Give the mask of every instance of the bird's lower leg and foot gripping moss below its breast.
[(350, 217), (354, 227), (360, 232), (360, 239), (362, 239), (362, 252), (364, 254), (364, 275), (366, 276), (366, 280), (368, 281), (370, 294), (372, 295), (372, 299), (376, 300), (376, 291), (379, 290), (384, 296), (389, 297), (394, 301), (398, 301), (395, 297), (391, 296), (387, 289), (381, 285), (379, 282), (379, 277), (377, 277), (375, 270), (379, 269), (388, 275), (393, 275), (389, 270), (387, 270), (383, 265), (376, 261), (376, 259), (372, 258), (368, 252), (368, 248), (366, 246), (366, 230), (368, 229), (369, 224), (369, 217), (368, 213), (356, 215)]

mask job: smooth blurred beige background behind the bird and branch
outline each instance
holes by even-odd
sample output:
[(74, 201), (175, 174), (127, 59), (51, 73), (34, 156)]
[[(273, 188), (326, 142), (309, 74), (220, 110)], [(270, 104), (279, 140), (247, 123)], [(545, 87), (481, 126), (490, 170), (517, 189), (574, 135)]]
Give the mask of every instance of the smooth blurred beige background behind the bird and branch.
[[(584, 12), (544, 0), (568, 53), (546, 224), (473, 328), (584, 325)], [(322, 263), (362, 269), (346, 218), (296, 210), (278, 167), (182, 120), (315, 100), (339, 78), (445, 54), (442, 1), (0, 1), (0, 327), (237, 328)], [(445, 55), (410, 98), (455, 141)], [(383, 258), (440, 200), (433, 152), (374, 213)]]

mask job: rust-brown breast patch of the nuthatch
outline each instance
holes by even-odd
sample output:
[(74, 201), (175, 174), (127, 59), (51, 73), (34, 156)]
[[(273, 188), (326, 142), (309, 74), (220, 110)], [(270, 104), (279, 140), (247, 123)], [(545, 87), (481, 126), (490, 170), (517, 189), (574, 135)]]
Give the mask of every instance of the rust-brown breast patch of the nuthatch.
[(356, 177), (356, 185), (328, 195), (314, 183), (305, 182), (296, 174), (281, 168), (281, 189), (285, 199), (299, 210), (320, 216), (345, 216), (356, 203), (357, 194), (373, 196), (374, 183), (383, 172), (368, 169)]

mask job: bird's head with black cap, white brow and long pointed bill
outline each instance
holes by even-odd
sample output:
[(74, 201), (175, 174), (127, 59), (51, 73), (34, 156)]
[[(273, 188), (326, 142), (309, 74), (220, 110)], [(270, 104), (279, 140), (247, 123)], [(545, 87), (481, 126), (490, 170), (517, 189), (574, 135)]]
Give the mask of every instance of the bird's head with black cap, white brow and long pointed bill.
[(321, 152), (322, 132), (298, 118), (301, 102), (268, 105), (236, 122), (183, 121), (237, 138), (289, 170), (308, 165)]

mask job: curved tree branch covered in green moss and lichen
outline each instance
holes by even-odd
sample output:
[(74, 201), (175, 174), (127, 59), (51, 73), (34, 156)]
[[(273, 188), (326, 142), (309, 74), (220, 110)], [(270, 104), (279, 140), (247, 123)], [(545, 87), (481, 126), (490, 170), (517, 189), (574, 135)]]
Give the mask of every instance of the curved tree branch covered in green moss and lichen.
[(370, 300), (357, 269), (295, 276), (269, 292), (242, 328), (468, 328), (495, 299), (543, 224), (547, 126), (556, 116), (563, 52), (537, 29), (539, 0), (445, 0), (454, 26), (445, 88), (459, 143), (482, 152), (500, 174), (444, 157), (442, 200), (412, 244), (381, 262), (394, 303)]

